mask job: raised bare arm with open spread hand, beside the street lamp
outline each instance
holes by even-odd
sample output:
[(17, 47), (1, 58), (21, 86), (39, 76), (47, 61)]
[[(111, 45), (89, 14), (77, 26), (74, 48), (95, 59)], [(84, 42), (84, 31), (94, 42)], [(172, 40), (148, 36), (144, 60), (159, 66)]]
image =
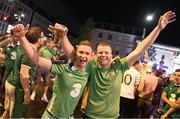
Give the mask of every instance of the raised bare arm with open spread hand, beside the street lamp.
[(153, 31), (137, 46), (137, 48), (127, 56), (128, 65), (131, 66), (147, 48), (154, 43), (159, 33), (169, 24), (175, 21), (175, 12), (168, 11), (159, 18), (157, 26)]

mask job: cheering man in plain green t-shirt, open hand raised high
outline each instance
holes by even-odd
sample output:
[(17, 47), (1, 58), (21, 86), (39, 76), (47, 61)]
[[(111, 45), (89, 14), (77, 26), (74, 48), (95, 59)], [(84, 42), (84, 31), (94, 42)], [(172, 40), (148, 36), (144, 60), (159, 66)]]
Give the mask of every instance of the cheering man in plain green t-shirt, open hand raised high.
[[(88, 64), (89, 95), (85, 114), (90, 118), (117, 118), (119, 116), (119, 101), (122, 75), (140, 56), (153, 44), (159, 33), (171, 22), (175, 21), (175, 13), (166, 12), (160, 17), (154, 30), (127, 57), (112, 61), (111, 45), (102, 42), (97, 46), (97, 60)], [(62, 29), (63, 25), (55, 24), (54, 28)], [(73, 58), (73, 46), (67, 36), (62, 37), (66, 54)]]

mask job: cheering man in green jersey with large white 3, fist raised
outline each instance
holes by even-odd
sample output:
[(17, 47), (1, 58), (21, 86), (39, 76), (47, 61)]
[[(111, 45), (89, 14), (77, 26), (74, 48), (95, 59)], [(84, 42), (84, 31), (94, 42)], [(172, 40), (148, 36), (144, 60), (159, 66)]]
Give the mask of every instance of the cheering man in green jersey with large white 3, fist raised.
[[(64, 33), (54, 33), (59, 36), (66, 35), (67, 29), (64, 28)], [(74, 55), (73, 64), (52, 64), (51, 60), (40, 57), (39, 54), (30, 47), (30, 43), (25, 38), (25, 27), (18, 24), (14, 27), (20, 43), (23, 46), (28, 57), (38, 66), (51, 71), (55, 75), (53, 95), (48, 103), (48, 106), (42, 118), (68, 118), (73, 114), (79, 99), (83, 93), (84, 87), (87, 83), (88, 73), (86, 65), (92, 55), (92, 47), (90, 42), (82, 41)]]

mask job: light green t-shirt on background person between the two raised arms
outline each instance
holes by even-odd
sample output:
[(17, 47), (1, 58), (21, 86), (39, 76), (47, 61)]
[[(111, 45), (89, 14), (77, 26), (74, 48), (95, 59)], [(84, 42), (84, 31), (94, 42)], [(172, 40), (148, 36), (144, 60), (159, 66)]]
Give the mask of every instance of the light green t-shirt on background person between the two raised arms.
[(57, 51), (54, 50), (53, 48), (48, 48), (47, 46), (43, 46), (39, 50), (40, 56), (46, 58), (46, 59), (51, 59), (53, 56), (56, 56)]

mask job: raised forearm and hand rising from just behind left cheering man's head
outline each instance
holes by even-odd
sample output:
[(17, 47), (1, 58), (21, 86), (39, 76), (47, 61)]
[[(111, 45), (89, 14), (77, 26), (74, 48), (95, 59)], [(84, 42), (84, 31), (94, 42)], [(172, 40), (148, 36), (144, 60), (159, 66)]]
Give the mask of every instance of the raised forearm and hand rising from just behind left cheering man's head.
[(56, 38), (55, 42), (59, 40), (58, 43), (60, 43), (61, 46), (63, 47), (66, 56), (73, 59), (75, 54), (75, 49), (72, 46), (72, 44), (69, 42), (69, 39), (67, 37), (67, 32), (68, 32), (67, 27), (62, 24), (56, 23), (54, 26), (50, 25), (48, 29), (51, 32), (53, 32), (53, 34), (55, 35)]

